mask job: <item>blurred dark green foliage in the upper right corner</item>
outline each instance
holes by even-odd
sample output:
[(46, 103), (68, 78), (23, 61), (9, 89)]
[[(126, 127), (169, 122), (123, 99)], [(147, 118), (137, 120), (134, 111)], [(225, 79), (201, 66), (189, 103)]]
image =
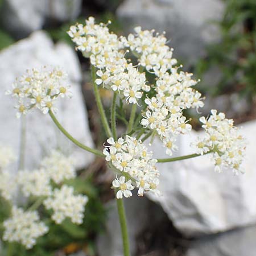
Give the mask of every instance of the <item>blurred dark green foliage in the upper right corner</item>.
[[(210, 86), (214, 95), (238, 91), (242, 96), (253, 97), (256, 94), (256, 1), (227, 0), (224, 16), (216, 25), (221, 31), (221, 43), (208, 47), (207, 57), (199, 61), (195, 73), (202, 77), (210, 68), (221, 72), (217, 86)], [(211, 81), (206, 82), (201, 89), (209, 92)]]

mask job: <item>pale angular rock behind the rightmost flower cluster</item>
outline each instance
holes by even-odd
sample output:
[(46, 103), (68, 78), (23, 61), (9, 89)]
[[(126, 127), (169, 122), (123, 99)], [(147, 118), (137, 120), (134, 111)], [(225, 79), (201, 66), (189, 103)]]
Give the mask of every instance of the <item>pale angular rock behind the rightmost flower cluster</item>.
[[(172, 163), (159, 163), (162, 196), (148, 194), (162, 205), (174, 226), (185, 236), (200, 236), (223, 232), (256, 222), (256, 167), (255, 167), (256, 122), (243, 124), (241, 133), (249, 144), (246, 148), (243, 167), (245, 174), (235, 176), (225, 170), (214, 172), (208, 156)], [(179, 139), (177, 155), (191, 154), (189, 144), (200, 135), (192, 132)], [(155, 141), (152, 151), (164, 158), (162, 143)]]

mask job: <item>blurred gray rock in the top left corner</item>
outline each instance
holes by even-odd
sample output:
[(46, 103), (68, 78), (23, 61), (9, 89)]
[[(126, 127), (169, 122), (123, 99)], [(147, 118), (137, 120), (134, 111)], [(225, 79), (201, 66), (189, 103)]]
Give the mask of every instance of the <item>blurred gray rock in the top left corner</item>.
[(1, 22), (15, 38), (39, 30), (48, 18), (67, 21), (77, 18), (81, 0), (6, 0), (1, 9)]

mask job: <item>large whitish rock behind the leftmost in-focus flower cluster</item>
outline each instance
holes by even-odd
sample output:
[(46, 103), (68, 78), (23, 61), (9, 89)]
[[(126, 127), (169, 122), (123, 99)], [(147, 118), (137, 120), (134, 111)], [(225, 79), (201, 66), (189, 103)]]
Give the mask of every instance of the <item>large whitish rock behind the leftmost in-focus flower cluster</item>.
[[(42, 31), (35, 32), (30, 38), (20, 40), (0, 52), (0, 142), (12, 146), (18, 155), (21, 119), (16, 119), (16, 110), (13, 108), (14, 100), (5, 95), (5, 90), (10, 89), (15, 77), (23, 75), (26, 69), (40, 68), (43, 65), (57, 65), (68, 73), (73, 97), (58, 101), (57, 118), (76, 139), (93, 147), (85, 104), (80, 92), (81, 71), (75, 51), (64, 43), (54, 45), (47, 34)], [(77, 168), (85, 167), (94, 159), (92, 154), (81, 150), (65, 138), (49, 115), (36, 110), (34, 113), (28, 113), (26, 115), (25, 167), (35, 168), (40, 159), (51, 148), (56, 147), (61, 148), (67, 154), (72, 154), (76, 158)]]

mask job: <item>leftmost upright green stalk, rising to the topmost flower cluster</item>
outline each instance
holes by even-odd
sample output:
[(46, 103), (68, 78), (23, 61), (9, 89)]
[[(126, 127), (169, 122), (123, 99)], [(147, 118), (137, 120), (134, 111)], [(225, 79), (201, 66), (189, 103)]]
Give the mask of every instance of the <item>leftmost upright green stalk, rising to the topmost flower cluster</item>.
[(109, 127), (109, 123), (108, 120), (106, 118), (106, 114), (101, 102), (101, 97), (100, 97), (100, 92), (98, 91), (98, 85), (96, 84), (95, 80), (96, 80), (96, 68), (94, 67), (94, 65), (91, 66), (92, 67), (92, 80), (93, 80), (93, 90), (94, 90), (94, 96), (96, 99), (96, 104), (98, 107), (98, 112), (100, 113), (101, 116), (101, 121), (102, 121), (102, 125), (105, 129), (106, 135), (108, 135), (108, 137), (112, 137), (112, 132), (110, 130)]

